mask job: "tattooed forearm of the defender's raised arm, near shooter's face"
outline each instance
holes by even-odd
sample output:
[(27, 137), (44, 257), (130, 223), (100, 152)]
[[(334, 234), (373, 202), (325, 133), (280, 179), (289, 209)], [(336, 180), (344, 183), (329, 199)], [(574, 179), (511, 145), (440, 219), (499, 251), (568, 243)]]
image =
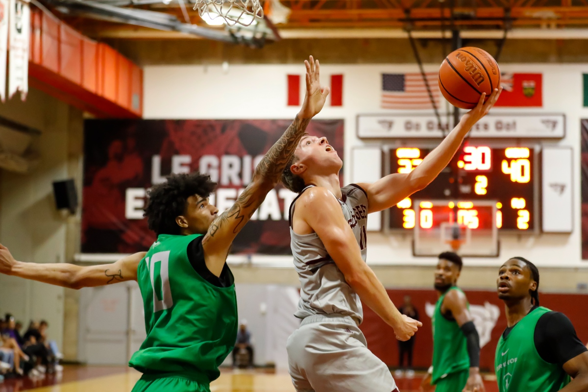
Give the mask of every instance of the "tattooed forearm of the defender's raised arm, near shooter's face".
[(261, 176), (272, 182), (277, 182), (286, 167), (286, 163), (292, 158), (298, 142), (302, 139), (310, 119), (300, 119), (298, 115), (292, 124), (286, 129), (282, 137), (263, 156), (253, 176)]

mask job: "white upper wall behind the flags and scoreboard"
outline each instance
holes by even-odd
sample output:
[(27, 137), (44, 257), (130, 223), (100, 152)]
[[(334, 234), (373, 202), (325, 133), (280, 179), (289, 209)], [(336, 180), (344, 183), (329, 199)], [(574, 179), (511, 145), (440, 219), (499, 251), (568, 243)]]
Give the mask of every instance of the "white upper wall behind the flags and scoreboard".
[[(316, 53), (315, 53), (316, 54)], [(320, 56), (319, 56), (320, 58)], [(144, 116), (148, 119), (283, 119), (293, 118), (298, 108), (286, 106), (286, 75), (305, 72), (300, 65), (147, 66), (144, 73)], [(438, 65), (427, 65), (436, 71)], [(566, 137), (555, 143), (574, 149), (574, 231), (572, 234), (537, 236), (502, 235), (497, 259), (468, 259), (469, 265), (497, 265), (509, 256), (521, 255), (540, 266), (588, 267), (581, 260), (580, 226), (580, 118), (588, 118), (582, 107), (582, 72), (586, 65), (508, 64), (502, 71), (543, 72), (543, 108), (500, 108), (495, 112), (563, 112)], [(323, 84), (330, 75), (343, 73), (343, 106), (326, 105), (321, 119), (345, 119), (345, 160), (353, 146), (365, 143), (356, 138), (356, 116), (364, 113), (393, 113), (380, 108), (381, 73), (418, 72), (416, 65), (323, 65)], [(303, 78), (302, 78), (303, 81)], [(415, 112), (416, 113), (416, 112)], [(368, 143), (369, 144), (369, 143)], [(545, 143), (544, 143), (545, 144)], [(350, 181), (349, 166), (345, 180)], [(354, 179), (355, 180), (355, 179)], [(385, 236), (370, 233), (368, 262), (373, 264), (432, 264), (431, 258), (412, 256), (410, 235)], [(276, 265), (290, 266), (287, 259), (274, 258)], [(253, 258), (256, 262), (262, 258)], [(267, 263), (267, 258), (263, 258)], [(261, 261), (259, 261), (261, 262)]]

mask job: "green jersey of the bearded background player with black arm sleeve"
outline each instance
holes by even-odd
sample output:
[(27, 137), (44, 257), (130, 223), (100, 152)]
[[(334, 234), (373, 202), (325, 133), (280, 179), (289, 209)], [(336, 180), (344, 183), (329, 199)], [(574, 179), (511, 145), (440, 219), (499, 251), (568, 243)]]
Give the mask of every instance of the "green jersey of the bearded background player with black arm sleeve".
[[(441, 305), (447, 293), (459, 290), (451, 287), (437, 300), (433, 313), (433, 376), (436, 392), (461, 392), (469, 376), (470, 357), (467, 354), (466, 336), (455, 320), (447, 320), (441, 313)], [(462, 292), (463, 293), (463, 292)]]

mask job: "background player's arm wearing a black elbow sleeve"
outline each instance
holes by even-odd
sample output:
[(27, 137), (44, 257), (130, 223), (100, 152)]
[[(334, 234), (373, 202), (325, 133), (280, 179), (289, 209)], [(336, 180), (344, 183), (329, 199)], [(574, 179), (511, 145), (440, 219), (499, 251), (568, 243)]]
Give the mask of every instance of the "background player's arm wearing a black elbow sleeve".
[(485, 392), (484, 381), (480, 376), (480, 337), (474, 325), (472, 314), (467, 309), (465, 294), (458, 290), (451, 290), (443, 300), (442, 310), (451, 311), (457, 325), (466, 336), (467, 354), (470, 357), (470, 375), (463, 392), (472, 391), (474, 388), (477, 388), (479, 392)]

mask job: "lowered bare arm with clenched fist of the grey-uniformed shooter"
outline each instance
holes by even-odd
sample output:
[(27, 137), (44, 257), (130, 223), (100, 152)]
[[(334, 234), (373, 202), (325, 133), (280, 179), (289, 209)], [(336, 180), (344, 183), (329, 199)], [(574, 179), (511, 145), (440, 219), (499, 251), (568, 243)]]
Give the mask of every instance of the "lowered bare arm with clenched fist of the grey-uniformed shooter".
[(335, 196), (323, 187), (312, 187), (296, 202), (296, 214), (318, 234), (362, 302), (394, 329), (396, 339), (410, 339), (423, 324), (400, 314), (376, 274), (363, 262), (358, 242)]

